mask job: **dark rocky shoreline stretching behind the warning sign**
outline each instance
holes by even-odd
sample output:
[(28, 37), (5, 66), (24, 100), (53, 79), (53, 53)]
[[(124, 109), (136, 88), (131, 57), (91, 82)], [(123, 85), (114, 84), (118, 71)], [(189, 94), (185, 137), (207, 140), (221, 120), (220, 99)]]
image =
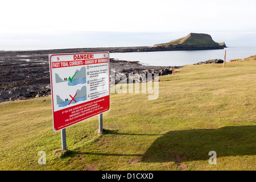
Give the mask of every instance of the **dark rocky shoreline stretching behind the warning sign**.
[[(128, 48), (130, 49), (130, 48)], [(0, 51), (0, 102), (46, 97), (51, 94), (48, 54), (71, 52), (127, 51), (127, 48), (79, 48), (37, 51)], [(110, 72), (128, 76), (129, 73), (158, 73), (159, 76), (172, 74), (180, 67), (146, 66), (138, 61), (115, 60), (110, 58)], [(111, 74), (111, 73), (110, 73)], [(119, 80), (110, 80), (118, 84)], [(137, 78), (135, 78), (136, 80)], [(138, 78), (139, 79), (139, 78)]]

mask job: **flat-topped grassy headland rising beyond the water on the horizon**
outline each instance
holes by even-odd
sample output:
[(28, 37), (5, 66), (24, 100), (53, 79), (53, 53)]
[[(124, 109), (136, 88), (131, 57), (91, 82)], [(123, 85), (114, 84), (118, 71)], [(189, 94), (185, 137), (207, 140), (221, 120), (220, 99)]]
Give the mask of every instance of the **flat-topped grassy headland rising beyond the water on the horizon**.
[(158, 48), (177, 48), (177, 49), (222, 49), (226, 47), (224, 42), (214, 42), (208, 34), (190, 33), (184, 38), (172, 40), (168, 43), (155, 44)]

